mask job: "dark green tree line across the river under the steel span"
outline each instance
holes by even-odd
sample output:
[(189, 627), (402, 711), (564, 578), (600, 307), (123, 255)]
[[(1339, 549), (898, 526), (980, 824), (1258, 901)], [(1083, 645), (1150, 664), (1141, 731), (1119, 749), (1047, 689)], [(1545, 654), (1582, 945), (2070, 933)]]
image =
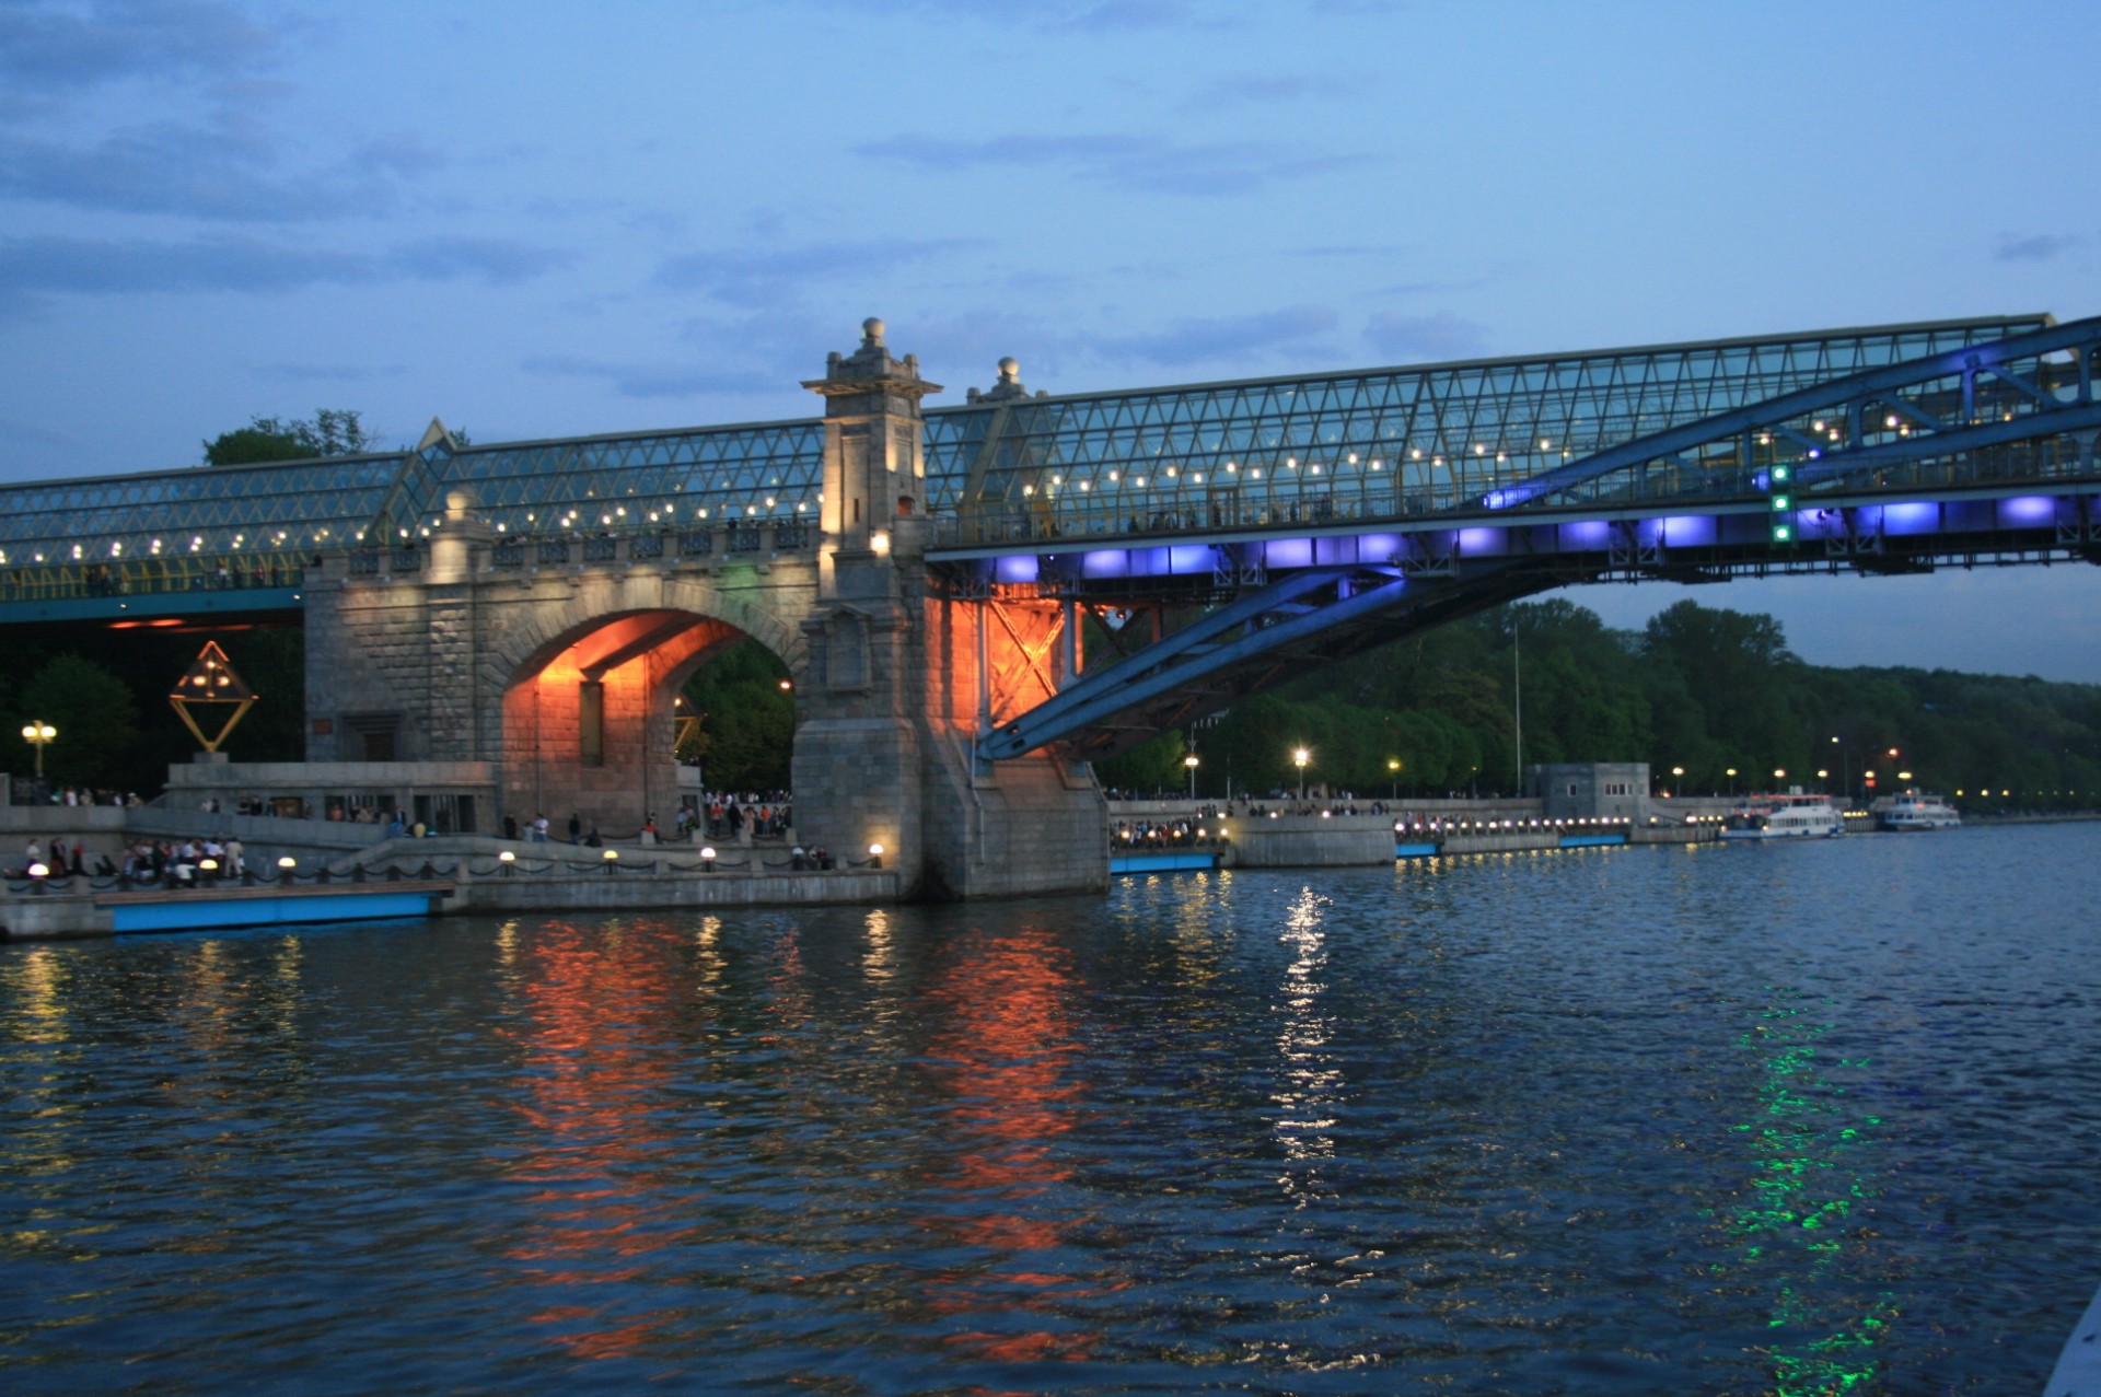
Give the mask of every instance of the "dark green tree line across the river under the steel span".
[(1876, 790), (1929, 786), (1977, 809), (2101, 807), (2101, 685), (1813, 666), (1771, 616), (1696, 601), (1639, 632), (1563, 599), (1513, 603), (1303, 674), (1099, 775), (1181, 792), (1193, 752), (1200, 794), (1223, 796), (1227, 779), (1296, 790), (1305, 746), (1307, 779), (1330, 790), (1517, 794), (1519, 708), (1525, 767), (1645, 760), (1689, 794), (1859, 792), (1874, 771)]

